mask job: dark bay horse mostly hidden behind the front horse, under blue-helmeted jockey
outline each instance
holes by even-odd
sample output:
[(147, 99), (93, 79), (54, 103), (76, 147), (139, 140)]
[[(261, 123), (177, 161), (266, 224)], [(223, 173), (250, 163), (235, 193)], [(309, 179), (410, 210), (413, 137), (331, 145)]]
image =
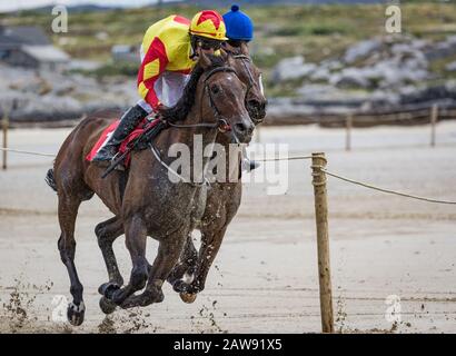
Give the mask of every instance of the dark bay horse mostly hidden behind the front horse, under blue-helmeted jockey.
[[(259, 125), (266, 116), (267, 103), (260, 82), (260, 71), (250, 59), (247, 44), (241, 43), (239, 48), (228, 47), (225, 50), (228, 53), (228, 63), (247, 86), (246, 107), (250, 119), (255, 125)], [(226, 136), (218, 136), (216, 142), (225, 147), (227, 152), (226, 171), (228, 171), (230, 140)], [(199, 251), (196, 250), (192, 238), (189, 236), (179, 264), (168, 277), (168, 281), (176, 291), (180, 293), (184, 301), (192, 303), (197, 293), (205, 289), (207, 274), (221, 246), (227, 227), (239, 209), (241, 195), (242, 184), (240, 179), (234, 182), (216, 181), (211, 184), (205, 214), (196, 226), (201, 233)], [(182, 280), (185, 275), (190, 277), (190, 284)]]

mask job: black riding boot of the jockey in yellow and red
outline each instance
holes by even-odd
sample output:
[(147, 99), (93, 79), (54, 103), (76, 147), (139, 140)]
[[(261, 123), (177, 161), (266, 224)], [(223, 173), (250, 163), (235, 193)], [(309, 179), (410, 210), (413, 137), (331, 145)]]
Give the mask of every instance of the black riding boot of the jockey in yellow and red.
[(109, 164), (116, 156), (120, 144), (127, 138), (127, 136), (138, 126), (138, 123), (146, 118), (148, 112), (139, 105), (136, 105), (128, 109), (120, 118), (119, 126), (116, 128), (109, 141), (93, 157), (92, 162), (102, 165)]

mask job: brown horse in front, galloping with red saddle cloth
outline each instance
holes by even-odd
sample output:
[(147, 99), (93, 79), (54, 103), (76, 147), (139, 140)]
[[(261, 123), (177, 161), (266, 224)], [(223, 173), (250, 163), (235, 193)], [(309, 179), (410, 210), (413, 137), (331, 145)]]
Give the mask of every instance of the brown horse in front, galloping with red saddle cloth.
[[(238, 141), (249, 142), (254, 123), (245, 107), (246, 90), (232, 68), (220, 58), (201, 53), (182, 99), (165, 115), (170, 127), (153, 139), (150, 150), (132, 152), (128, 176), (113, 171), (101, 179), (102, 168), (85, 159), (112, 120), (112, 112), (83, 119), (65, 140), (49, 175), (59, 198), (61, 235), (58, 247), (71, 283), (73, 300), (68, 307), (68, 319), (72, 325), (80, 325), (85, 316), (82, 284), (75, 266), (73, 233), (80, 204), (97, 194), (115, 214), (113, 218), (96, 227), (110, 277), (110, 283), (100, 287), (105, 295), (101, 307), (110, 309), (118, 305), (128, 308), (162, 301), (162, 283), (178, 263), (187, 236), (195, 227), (194, 221), (201, 219), (207, 192), (207, 187), (199, 184), (204, 171), (194, 172), (191, 181), (171, 181), (169, 166), (176, 158), (167, 155), (168, 149), (174, 144), (192, 147), (198, 135), (202, 137), (202, 147), (214, 144), (220, 135), (231, 134)], [(184, 125), (176, 121), (184, 121)], [(230, 132), (220, 134), (218, 128), (226, 125)], [(191, 161), (198, 159), (192, 150), (190, 156)], [(200, 159), (201, 167), (205, 167), (208, 158)], [(125, 231), (132, 260), (129, 284), (122, 288), (119, 287), (122, 280), (111, 248), (111, 240), (119, 231)], [(152, 265), (146, 259), (147, 236), (159, 241)], [(135, 295), (145, 286), (142, 294)]]

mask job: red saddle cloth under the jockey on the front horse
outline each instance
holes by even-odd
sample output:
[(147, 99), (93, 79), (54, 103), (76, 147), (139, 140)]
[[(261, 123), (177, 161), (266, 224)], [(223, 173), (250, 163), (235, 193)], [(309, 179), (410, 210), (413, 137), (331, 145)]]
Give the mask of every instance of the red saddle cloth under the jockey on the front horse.
[[(127, 136), (127, 138), (122, 141), (122, 144), (120, 144), (119, 147), (119, 154), (122, 155), (128, 145), (135, 140), (136, 138), (138, 138), (139, 136), (142, 135), (142, 132), (145, 132), (148, 129), (151, 129), (152, 127), (155, 127), (160, 120), (153, 120), (153, 121), (149, 121), (148, 118), (143, 119), (137, 127), (135, 130), (132, 130), (130, 132), (130, 135)], [(119, 126), (120, 120), (116, 120), (113, 121), (111, 125), (109, 125), (102, 132), (100, 138), (97, 140), (97, 142), (93, 145), (92, 149), (90, 150), (90, 152), (86, 156), (86, 160), (91, 161), (93, 159), (93, 157), (97, 155), (97, 152), (101, 149), (101, 147), (103, 147), (109, 138), (111, 137), (111, 135), (113, 134), (113, 131), (117, 129), (117, 127)], [(128, 154), (125, 158), (123, 161), (123, 166), (126, 168), (128, 168), (128, 166), (130, 165), (130, 154)]]

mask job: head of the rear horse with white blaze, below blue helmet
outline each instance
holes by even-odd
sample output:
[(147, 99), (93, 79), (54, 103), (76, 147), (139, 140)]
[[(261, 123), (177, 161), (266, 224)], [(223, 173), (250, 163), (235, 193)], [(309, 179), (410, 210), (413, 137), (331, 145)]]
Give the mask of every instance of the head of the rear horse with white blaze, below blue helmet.
[(226, 42), (226, 60), (236, 70), (239, 79), (247, 86), (246, 107), (255, 125), (261, 123), (266, 116), (267, 99), (264, 93), (261, 72), (254, 65), (246, 42), (231, 46)]

